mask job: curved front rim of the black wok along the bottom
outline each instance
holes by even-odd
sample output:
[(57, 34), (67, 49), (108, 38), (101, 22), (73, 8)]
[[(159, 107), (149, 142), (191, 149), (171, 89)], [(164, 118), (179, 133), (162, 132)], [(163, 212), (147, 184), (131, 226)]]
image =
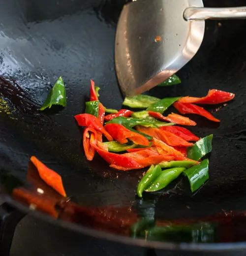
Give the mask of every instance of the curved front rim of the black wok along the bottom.
[(7, 194), (0, 194), (1, 199), (4, 202), (9, 203), (11, 206), (16, 209), (30, 214), (40, 220), (43, 220), (47, 223), (60, 226), (64, 229), (74, 231), (89, 237), (103, 239), (110, 242), (121, 243), (129, 246), (137, 246), (146, 249), (157, 249), (157, 250), (166, 250), (166, 251), (186, 251), (186, 252), (224, 252), (224, 251), (235, 251), (246, 249), (245, 242), (230, 242), (230, 243), (174, 243), (174, 242), (160, 242), (160, 241), (151, 241), (144, 240), (140, 238), (131, 238), (129, 236), (123, 236), (119, 234), (109, 233), (106, 231), (96, 230), (84, 225), (71, 223), (64, 220), (59, 220), (52, 218), (51, 216), (37, 210), (30, 209), (23, 203), (20, 203), (14, 200), (11, 196)]

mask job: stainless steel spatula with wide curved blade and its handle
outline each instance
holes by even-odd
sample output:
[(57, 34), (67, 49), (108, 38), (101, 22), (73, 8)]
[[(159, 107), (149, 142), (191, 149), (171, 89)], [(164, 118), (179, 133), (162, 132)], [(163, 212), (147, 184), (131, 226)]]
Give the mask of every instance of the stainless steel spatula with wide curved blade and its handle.
[[(115, 41), (115, 63), (127, 96), (150, 90), (198, 51), (206, 19), (245, 19), (245, 7), (205, 8), (202, 0), (136, 0), (125, 4)], [(209, 49), (208, 49), (209, 51)]]

